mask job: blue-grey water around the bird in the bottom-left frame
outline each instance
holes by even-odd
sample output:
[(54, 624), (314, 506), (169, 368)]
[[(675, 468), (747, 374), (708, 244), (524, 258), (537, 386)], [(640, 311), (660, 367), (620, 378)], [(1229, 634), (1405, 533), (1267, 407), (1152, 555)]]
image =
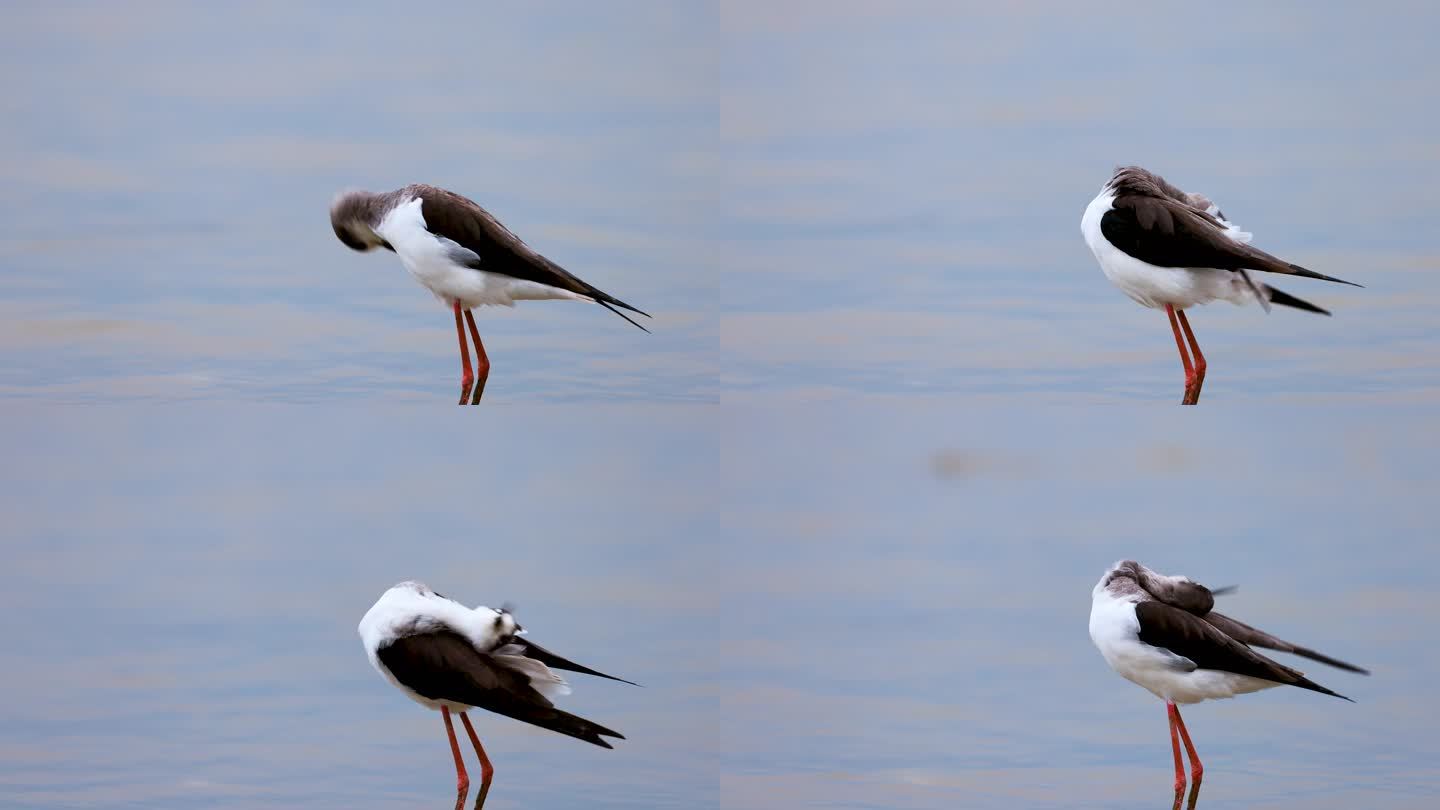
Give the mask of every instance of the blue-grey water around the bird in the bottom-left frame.
[(713, 797), (706, 425), (490, 406), (7, 408), (0, 615), (24, 699), (0, 706), (0, 806), (448, 806), (439, 716), (356, 634), (405, 578), (513, 601), (537, 641), (645, 683), (560, 699), (624, 732), (613, 751), (474, 712), (487, 809)]

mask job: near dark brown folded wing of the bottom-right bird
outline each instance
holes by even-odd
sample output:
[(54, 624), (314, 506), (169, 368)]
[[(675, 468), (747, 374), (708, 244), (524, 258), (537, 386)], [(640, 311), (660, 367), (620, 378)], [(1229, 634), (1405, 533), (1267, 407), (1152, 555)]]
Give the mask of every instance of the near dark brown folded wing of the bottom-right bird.
[(1140, 602), (1135, 605), (1135, 615), (1140, 621), (1140, 641), (1187, 657), (1200, 669), (1248, 675), (1349, 700), (1305, 677), (1305, 673), (1246, 647), (1205, 620), (1165, 602)]

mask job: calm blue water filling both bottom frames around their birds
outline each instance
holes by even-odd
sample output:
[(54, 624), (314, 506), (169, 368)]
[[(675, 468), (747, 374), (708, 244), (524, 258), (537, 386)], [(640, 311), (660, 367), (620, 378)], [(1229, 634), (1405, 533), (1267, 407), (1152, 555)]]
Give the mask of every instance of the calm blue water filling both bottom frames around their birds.
[(444, 806), (354, 631), (422, 577), (645, 685), (566, 700), (616, 751), (478, 713), (491, 807), (1158, 807), (1161, 703), (1086, 633), (1122, 556), (1375, 672), (1191, 708), (1201, 806), (1434, 798), (1418, 412), (412, 411), (9, 408), (0, 804)]

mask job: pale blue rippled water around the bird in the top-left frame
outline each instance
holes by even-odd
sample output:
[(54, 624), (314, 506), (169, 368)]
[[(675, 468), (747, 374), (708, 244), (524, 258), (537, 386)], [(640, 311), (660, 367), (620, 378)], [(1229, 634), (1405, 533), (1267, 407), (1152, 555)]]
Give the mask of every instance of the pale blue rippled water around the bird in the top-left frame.
[(351, 12), (14, 9), (0, 395), (444, 402), (449, 313), (324, 219), (344, 187), (431, 180), (642, 297), (664, 336), (590, 306), (485, 308), (492, 402), (714, 401), (714, 284), (688, 258), (713, 209), (704, 10)]

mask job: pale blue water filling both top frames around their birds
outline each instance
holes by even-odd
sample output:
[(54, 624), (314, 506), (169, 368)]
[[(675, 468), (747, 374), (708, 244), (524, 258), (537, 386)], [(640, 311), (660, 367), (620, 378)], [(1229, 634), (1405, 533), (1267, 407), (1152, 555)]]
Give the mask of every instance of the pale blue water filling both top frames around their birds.
[(426, 180), (657, 316), (480, 313), (491, 399), (1168, 402), (1080, 213), (1218, 200), (1335, 311), (1192, 319), (1207, 399), (1440, 379), (1426, 3), (13, 4), (0, 392), (448, 401), (442, 304), (327, 225)]

